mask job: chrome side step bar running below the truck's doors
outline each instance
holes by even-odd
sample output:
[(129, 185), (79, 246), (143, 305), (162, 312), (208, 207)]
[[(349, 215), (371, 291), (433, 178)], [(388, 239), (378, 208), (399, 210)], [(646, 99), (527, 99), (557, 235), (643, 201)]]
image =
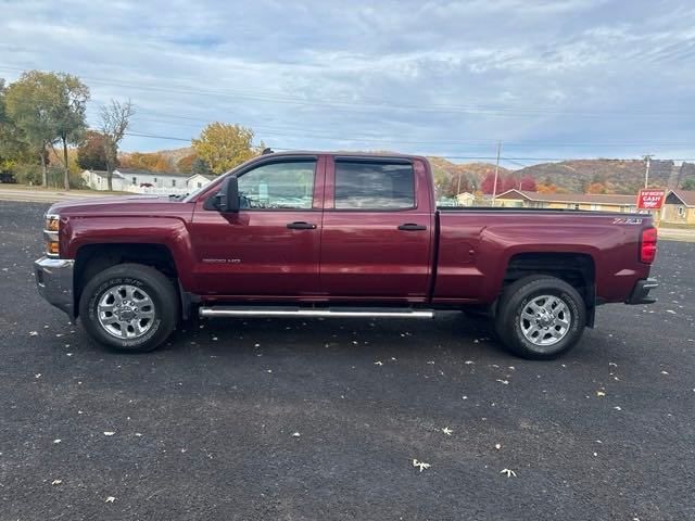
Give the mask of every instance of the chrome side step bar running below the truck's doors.
[(369, 317), (369, 318), (433, 318), (432, 309), (401, 309), (383, 307), (361, 308), (302, 308), (264, 306), (201, 307), (201, 317)]

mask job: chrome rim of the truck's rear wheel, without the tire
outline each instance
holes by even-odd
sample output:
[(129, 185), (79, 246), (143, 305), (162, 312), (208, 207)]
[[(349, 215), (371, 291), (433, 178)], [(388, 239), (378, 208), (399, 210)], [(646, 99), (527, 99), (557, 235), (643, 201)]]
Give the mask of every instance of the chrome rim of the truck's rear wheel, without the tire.
[(521, 310), (519, 326), (526, 340), (533, 345), (547, 347), (563, 340), (572, 323), (567, 303), (555, 295), (531, 298)]

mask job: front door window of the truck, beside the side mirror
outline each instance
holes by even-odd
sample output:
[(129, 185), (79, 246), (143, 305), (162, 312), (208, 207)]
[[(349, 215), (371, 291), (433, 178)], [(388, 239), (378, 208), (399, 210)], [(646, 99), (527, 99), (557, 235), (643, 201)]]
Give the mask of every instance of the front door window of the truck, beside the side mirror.
[(315, 161), (271, 163), (239, 177), (241, 208), (311, 209)]

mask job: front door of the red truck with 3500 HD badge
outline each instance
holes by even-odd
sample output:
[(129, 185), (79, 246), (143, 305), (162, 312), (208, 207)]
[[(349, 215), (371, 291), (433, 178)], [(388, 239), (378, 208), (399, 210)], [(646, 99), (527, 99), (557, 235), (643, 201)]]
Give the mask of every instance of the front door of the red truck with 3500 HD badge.
[(197, 203), (190, 237), (198, 293), (268, 300), (318, 293), (323, 165), (313, 156), (269, 156), (237, 174), (239, 212)]

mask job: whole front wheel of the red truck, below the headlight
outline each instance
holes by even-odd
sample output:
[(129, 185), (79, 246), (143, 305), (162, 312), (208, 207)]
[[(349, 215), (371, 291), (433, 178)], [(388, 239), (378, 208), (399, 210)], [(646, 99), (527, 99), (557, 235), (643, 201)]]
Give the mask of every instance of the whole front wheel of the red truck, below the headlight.
[(160, 271), (141, 264), (119, 264), (96, 275), (79, 300), (87, 332), (117, 351), (156, 348), (176, 328), (178, 295)]

